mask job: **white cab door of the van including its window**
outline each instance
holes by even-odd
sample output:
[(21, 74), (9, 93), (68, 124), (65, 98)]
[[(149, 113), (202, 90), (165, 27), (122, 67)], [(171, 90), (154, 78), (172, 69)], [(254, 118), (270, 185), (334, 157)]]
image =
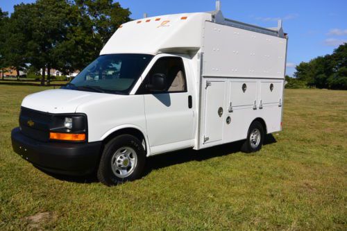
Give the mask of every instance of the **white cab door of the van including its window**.
[[(167, 87), (161, 92), (146, 89), (150, 76), (164, 74)], [(151, 154), (193, 146), (194, 112), (183, 58), (162, 56), (144, 78), (137, 94), (144, 95), (147, 135)]]

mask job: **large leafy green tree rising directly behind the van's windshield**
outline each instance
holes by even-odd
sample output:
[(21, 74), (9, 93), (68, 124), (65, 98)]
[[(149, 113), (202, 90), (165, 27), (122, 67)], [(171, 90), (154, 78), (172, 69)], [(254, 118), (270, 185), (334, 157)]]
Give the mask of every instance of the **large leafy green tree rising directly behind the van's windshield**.
[(83, 69), (130, 15), (111, 0), (37, 0), (34, 8), (29, 56), (35, 67), (47, 69), (48, 80), (51, 68), (63, 74)]

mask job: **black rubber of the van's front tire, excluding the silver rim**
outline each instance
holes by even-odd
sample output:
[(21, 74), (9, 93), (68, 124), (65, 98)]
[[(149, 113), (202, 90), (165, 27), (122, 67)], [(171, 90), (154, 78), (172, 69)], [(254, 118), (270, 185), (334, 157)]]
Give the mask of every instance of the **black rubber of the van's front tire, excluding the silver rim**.
[[(133, 148), (137, 155), (137, 166), (135, 167), (133, 173), (126, 178), (119, 178), (113, 173), (111, 167), (112, 156), (115, 152), (121, 148), (128, 146)], [(110, 140), (108, 144), (106, 144), (105, 149), (103, 151), (103, 155), (101, 156), (98, 176), (101, 182), (105, 183), (105, 185), (117, 185), (123, 182), (136, 180), (142, 176), (142, 171), (144, 169), (144, 164), (146, 162), (146, 154), (144, 151), (144, 147), (142, 146), (139, 139), (134, 137), (133, 135), (119, 135), (114, 139)]]

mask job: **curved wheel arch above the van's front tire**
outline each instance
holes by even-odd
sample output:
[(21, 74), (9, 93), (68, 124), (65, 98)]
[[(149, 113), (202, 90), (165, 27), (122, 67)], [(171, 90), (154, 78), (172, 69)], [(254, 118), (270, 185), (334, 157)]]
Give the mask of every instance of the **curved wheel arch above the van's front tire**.
[(111, 139), (119, 136), (119, 135), (133, 135), (137, 139), (139, 139), (140, 142), (144, 142), (144, 151), (146, 152), (146, 156), (151, 154), (151, 149), (149, 148), (149, 139), (146, 135), (146, 133), (142, 130), (142, 128), (139, 128), (137, 126), (133, 125), (124, 125), (119, 126), (117, 128), (113, 128), (112, 130), (108, 131), (103, 135), (101, 138), (103, 145), (107, 144)]

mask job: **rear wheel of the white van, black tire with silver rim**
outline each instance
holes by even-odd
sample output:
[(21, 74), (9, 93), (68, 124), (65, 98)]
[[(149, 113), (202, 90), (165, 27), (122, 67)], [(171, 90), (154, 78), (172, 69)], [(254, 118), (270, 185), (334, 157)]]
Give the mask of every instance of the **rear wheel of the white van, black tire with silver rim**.
[(247, 139), (242, 145), (241, 151), (244, 153), (254, 153), (260, 151), (264, 142), (264, 136), (265, 132), (262, 123), (253, 121), (251, 126), (249, 126)]

